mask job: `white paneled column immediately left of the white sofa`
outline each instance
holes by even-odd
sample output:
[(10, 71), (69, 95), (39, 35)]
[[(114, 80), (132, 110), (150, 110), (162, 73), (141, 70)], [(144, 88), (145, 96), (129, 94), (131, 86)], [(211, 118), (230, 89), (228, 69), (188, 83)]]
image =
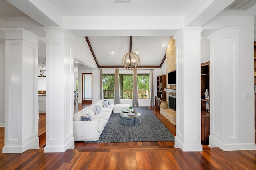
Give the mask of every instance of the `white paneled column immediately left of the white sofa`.
[(46, 32), (46, 146), (44, 152), (74, 147), (74, 36), (63, 28)]

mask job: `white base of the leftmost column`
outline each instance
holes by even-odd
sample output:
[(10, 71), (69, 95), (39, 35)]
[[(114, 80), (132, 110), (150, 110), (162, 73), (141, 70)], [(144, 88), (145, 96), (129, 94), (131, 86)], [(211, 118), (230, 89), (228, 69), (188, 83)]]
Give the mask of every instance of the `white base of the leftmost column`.
[(23, 153), (28, 149), (39, 149), (39, 137), (36, 137), (24, 146), (4, 146), (3, 153)]

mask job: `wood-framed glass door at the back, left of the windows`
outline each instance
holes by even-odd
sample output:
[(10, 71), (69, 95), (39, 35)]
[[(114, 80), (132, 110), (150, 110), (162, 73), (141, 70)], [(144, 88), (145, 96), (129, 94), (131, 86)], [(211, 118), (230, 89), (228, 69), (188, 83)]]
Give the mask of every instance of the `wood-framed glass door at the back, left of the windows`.
[(82, 103), (92, 104), (92, 73), (82, 73)]

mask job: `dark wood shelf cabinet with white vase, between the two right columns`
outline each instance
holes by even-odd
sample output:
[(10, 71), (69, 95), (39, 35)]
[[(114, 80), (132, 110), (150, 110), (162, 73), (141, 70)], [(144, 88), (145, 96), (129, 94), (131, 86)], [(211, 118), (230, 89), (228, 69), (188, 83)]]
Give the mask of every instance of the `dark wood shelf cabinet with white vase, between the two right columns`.
[[(206, 89), (208, 96), (205, 96)], [(201, 140), (209, 144), (210, 135), (210, 62), (201, 64)]]

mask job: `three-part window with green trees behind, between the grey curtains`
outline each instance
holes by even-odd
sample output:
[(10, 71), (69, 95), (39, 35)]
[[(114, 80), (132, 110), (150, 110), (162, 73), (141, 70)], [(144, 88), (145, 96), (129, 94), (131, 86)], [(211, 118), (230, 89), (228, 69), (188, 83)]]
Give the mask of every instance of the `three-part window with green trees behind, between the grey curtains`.
[[(137, 74), (138, 98), (150, 98), (149, 75)], [(115, 75), (102, 74), (103, 96), (105, 99), (114, 98)], [(119, 74), (119, 88), (121, 99), (132, 99), (133, 97), (133, 76), (132, 74)]]

